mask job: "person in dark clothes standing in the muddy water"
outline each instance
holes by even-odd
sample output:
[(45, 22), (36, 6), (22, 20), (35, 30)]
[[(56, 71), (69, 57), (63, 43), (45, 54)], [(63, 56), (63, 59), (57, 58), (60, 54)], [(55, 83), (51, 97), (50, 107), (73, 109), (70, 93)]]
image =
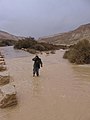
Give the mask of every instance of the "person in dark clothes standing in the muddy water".
[(37, 76), (39, 76), (39, 69), (40, 69), (40, 66), (42, 67), (42, 61), (38, 57), (38, 55), (36, 55), (36, 57), (33, 58), (32, 60), (34, 61), (34, 65), (33, 65), (33, 77), (35, 76), (35, 74)]

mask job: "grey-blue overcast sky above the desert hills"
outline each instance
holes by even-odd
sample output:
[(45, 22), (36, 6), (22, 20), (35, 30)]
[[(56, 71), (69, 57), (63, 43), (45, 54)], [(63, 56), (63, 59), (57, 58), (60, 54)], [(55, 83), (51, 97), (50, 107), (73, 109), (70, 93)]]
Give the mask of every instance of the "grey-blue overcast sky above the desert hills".
[(35, 38), (90, 23), (90, 0), (0, 0), (0, 30)]

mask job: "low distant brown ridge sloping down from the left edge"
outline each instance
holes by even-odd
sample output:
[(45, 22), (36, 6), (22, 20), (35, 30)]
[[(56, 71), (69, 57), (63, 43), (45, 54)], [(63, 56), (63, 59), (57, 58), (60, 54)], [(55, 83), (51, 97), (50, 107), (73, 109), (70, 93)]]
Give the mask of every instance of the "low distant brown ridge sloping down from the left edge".
[(15, 36), (8, 32), (0, 30), (0, 40), (19, 40), (22, 38), (24, 38), (24, 37)]

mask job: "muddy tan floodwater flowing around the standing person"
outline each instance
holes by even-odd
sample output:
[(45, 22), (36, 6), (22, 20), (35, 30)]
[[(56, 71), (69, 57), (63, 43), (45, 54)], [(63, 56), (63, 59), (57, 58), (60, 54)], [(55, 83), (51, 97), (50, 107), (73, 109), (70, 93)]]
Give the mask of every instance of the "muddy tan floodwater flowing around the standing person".
[(40, 55), (40, 77), (32, 77), (34, 55), (13, 47), (0, 48), (18, 105), (0, 109), (0, 120), (90, 120), (90, 65), (72, 65), (63, 50)]

